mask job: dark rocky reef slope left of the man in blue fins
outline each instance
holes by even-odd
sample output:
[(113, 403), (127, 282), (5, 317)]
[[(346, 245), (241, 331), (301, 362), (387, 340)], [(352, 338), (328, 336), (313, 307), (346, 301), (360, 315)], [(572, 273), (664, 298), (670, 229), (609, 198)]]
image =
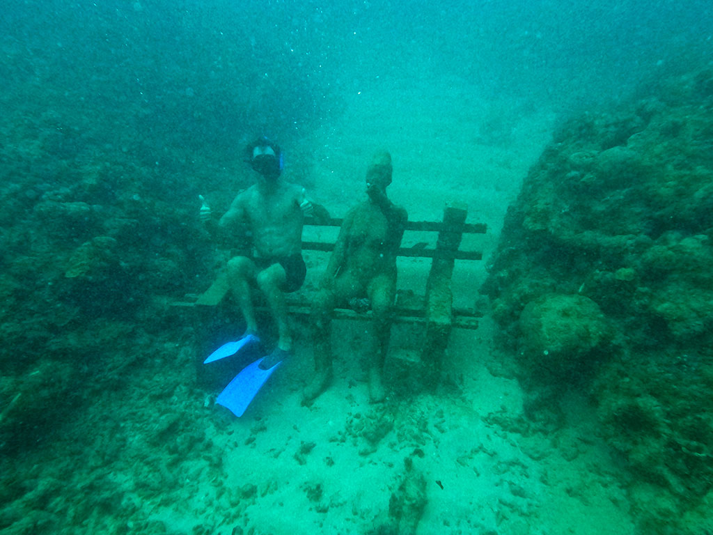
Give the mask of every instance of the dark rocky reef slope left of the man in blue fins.
[(228, 167), (190, 148), (159, 150), (131, 128), (133, 106), (113, 131), (113, 112), (25, 89), (0, 98), (0, 452), (10, 457), (116, 388), (118, 370), (150, 360), (146, 342), (186, 342), (185, 321), (161, 300), (204, 290), (220, 260), (198, 193), (220, 188), (221, 210), (248, 183), (238, 156)]

